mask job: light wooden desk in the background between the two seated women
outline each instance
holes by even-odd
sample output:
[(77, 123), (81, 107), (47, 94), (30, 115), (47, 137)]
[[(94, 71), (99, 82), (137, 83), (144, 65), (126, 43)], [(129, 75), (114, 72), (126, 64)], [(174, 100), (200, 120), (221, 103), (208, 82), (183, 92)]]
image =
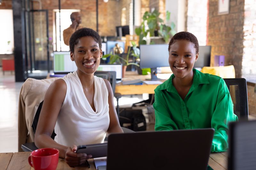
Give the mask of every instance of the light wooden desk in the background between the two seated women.
[[(140, 79), (142, 81), (151, 78), (151, 75), (139, 75), (137, 72), (127, 71), (123, 81), (132, 81)], [(165, 80), (162, 80), (164, 82)], [(143, 93), (154, 94), (154, 90), (159, 84), (145, 84), (142, 85), (123, 85), (123, 83), (116, 84), (115, 93), (121, 95), (141, 95)]]

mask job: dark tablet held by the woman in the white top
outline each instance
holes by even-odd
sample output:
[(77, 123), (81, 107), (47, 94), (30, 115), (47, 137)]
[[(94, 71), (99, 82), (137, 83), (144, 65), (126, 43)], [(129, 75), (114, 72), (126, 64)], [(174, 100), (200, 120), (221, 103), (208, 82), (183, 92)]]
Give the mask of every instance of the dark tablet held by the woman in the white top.
[(108, 143), (79, 145), (77, 146), (76, 153), (86, 153), (92, 155), (92, 158), (100, 158), (107, 156)]

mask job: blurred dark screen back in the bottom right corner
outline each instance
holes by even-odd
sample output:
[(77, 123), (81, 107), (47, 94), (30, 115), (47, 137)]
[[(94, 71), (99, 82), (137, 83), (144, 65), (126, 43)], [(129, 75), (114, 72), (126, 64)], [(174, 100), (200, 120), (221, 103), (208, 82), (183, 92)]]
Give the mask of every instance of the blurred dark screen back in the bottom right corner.
[(256, 120), (229, 124), (229, 170), (249, 170), (256, 167)]

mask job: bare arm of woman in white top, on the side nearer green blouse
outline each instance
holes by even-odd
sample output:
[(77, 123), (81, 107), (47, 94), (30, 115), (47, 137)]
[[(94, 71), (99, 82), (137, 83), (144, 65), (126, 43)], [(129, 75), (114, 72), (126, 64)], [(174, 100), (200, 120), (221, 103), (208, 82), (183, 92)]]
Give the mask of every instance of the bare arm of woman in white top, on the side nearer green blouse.
[(109, 105), (109, 118), (110, 118), (110, 123), (109, 123), (107, 132), (108, 134), (113, 132), (123, 133), (123, 130), (121, 129), (121, 126), (117, 118), (116, 108), (114, 105), (114, 95), (113, 95), (111, 85), (108, 80), (104, 79), (104, 81), (108, 89), (108, 105)]

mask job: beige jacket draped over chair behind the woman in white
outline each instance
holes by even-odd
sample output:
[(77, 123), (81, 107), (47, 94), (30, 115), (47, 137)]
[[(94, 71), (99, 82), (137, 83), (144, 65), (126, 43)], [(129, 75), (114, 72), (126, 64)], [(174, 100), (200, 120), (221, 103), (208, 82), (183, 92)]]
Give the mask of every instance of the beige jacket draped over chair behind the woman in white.
[(44, 100), (45, 92), (50, 84), (59, 78), (36, 80), (28, 78), (20, 89), (18, 113), (18, 151), (21, 145), (34, 142), (32, 123), (39, 104)]

